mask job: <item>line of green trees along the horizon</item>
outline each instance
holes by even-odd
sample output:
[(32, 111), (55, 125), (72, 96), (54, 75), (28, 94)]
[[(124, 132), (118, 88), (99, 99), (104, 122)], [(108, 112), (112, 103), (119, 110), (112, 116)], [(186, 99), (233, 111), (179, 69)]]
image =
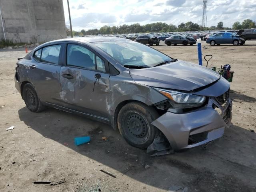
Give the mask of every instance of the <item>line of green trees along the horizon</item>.
[[(256, 22), (251, 19), (246, 19), (240, 24), (240, 22), (234, 22), (232, 29), (245, 29), (255, 28)], [(98, 34), (124, 34), (124, 33), (148, 33), (148, 32), (184, 32), (184, 31), (204, 31), (204, 30), (230, 30), (231, 28), (224, 27), (223, 22), (218, 22), (217, 26), (202, 27), (197, 23), (182, 22), (178, 26), (174, 24), (167, 24), (163, 22), (150, 23), (146, 25), (140, 25), (134, 23), (131, 25), (120, 25), (120, 26), (107, 26), (104, 25), (100, 29), (89, 29), (81, 31), (73, 31), (73, 35), (98, 35)], [(66, 26), (67, 36), (71, 35), (70, 28)]]

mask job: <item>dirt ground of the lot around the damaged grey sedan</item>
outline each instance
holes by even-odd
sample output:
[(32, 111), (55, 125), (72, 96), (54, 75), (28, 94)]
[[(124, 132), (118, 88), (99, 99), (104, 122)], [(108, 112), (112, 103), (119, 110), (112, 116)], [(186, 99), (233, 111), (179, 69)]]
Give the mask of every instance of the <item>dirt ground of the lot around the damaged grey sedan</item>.
[[(256, 133), (250, 129), (256, 131), (256, 41), (244, 46), (203, 42), (202, 46), (207, 48), (204, 55), (213, 54), (210, 66), (231, 64), (235, 72), (233, 124), (206, 148), (158, 157), (128, 145), (106, 124), (52, 108), (37, 114), (28, 111), (14, 87), (16, 59), (26, 53), (1, 50), (0, 191), (166, 192), (179, 185), (189, 192), (255, 192)], [(168, 47), (161, 42), (154, 48), (181, 60), (198, 60), (195, 45)], [(14, 130), (6, 131), (12, 125)], [(91, 136), (90, 144), (74, 145), (74, 137), (86, 135)], [(102, 136), (109, 141), (98, 143)], [(150, 168), (145, 169), (146, 164)], [(66, 182), (56, 186), (33, 184), (62, 178)]]

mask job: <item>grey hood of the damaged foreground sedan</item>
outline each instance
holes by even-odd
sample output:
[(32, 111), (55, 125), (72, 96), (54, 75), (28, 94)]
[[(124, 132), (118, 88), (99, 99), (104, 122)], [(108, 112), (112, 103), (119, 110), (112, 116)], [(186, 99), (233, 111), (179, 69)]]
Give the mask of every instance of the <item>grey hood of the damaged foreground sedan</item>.
[(152, 87), (191, 91), (220, 78), (211, 69), (178, 60), (158, 67), (130, 70), (132, 79)]

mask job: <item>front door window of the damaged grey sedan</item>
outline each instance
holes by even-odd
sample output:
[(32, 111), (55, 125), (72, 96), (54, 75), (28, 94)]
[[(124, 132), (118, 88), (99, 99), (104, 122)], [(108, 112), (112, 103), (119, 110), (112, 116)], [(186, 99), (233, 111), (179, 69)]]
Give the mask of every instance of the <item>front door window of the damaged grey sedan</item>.
[(95, 54), (80, 45), (68, 44), (67, 65), (95, 70)]

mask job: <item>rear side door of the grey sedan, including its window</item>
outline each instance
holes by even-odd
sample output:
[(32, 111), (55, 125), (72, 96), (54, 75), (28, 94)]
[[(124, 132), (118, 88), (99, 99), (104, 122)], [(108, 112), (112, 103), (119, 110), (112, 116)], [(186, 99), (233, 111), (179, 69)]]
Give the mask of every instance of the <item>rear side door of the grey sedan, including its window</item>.
[(29, 81), (39, 98), (48, 103), (61, 102), (59, 58), (62, 48), (63, 44), (58, 43), (38, 49), (28, 65)]

